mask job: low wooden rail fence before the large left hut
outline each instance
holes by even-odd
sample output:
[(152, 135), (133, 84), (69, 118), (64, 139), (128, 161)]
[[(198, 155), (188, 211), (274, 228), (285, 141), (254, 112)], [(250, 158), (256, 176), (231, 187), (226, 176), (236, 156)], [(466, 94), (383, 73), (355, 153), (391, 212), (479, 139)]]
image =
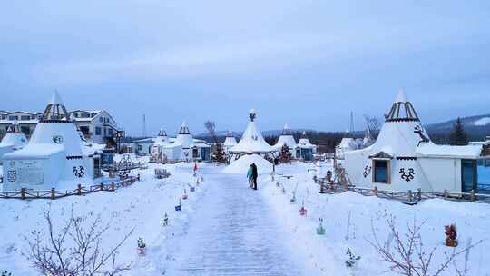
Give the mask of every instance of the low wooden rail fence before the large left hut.
[(84, 195), (92, 192), (115, 192), (117, 189), (122, 187), (131, 186), (134, 182), (140, 181), (140, 174), (138, 176), (129, 176), (117, 182), (103, 183), (92, 186), (82, 186), (78, 184), (74, 190), (66, 190), (64, 192), (56, 191), (51, 188), (49, 191), (31, 191), (22, 188), (20, 191), (12, 192), (0, 192), (0, 199), (21, 199), (21, 200), (31, 200), (31, 199), (51, 199), (55, 200), (58, 198), (64, 198), (72, 195)]

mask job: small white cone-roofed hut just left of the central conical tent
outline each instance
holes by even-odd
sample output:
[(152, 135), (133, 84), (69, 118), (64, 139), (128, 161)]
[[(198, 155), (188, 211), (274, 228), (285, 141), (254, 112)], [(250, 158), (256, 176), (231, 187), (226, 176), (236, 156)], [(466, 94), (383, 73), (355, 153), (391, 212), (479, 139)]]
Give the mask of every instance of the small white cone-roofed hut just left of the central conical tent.
[(186, 122), (182, 123), (177, 137), (159, 145), (166, 160), (176, 162), (210, 161), (211, 146), (203, 140), (194, 139)]

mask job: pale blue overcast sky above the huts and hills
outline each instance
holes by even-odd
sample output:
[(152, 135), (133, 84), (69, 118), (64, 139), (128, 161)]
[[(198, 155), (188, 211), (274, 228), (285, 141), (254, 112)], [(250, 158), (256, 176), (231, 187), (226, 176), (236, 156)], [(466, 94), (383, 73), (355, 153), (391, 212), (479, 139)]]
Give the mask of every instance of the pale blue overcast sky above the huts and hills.
[(490, 113), (490, 1), (2, 1), (0, 110), (105, 109), (130, 134), (346, 130), (403, 88), (423, 123)]

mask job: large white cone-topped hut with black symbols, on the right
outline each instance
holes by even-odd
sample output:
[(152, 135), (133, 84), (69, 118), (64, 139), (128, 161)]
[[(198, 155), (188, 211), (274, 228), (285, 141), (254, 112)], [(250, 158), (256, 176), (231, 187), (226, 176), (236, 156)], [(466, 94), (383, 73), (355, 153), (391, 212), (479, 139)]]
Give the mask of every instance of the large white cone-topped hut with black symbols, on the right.
[[(432, 143), (413, 105), (397, 94), (377, 141), (345, 153), (350, 180), (390, 191), (485, 192), (490, 188), (490, 145), (449, 146)], [(486, 149), (486, 150), (485, 150)]]

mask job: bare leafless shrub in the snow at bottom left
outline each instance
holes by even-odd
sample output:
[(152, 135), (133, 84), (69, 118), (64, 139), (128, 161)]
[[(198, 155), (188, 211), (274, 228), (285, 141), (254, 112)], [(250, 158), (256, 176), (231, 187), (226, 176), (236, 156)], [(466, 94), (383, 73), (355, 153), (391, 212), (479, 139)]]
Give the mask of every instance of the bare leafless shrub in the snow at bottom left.
[(113, 248), (104, 251), (103, 236), (110, 223), (103, 224), (101, 216), (89, 220), (87, 216), (72, 214), (59, 231), (54, 230), (51, 207), (44, 211), (45, 232), (31, 232), (25, 237), (29, 251), (23, 253), (34, 268), (46, 276), (114, 276), (130, 269), (129, 264), (117, 264), (116, 257), (122, 244), (132, 234), (125, 234)]

